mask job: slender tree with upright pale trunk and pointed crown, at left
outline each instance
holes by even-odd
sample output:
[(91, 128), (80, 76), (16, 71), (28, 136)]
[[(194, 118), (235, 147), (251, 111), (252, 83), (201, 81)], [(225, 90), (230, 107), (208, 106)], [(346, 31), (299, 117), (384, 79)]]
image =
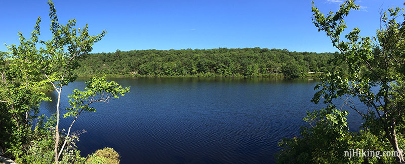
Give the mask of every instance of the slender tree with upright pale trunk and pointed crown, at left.
[[(53, 34), (52, 40), (40, 41), (46, 46), (46, 48), (40, 48), (39, 52), (33, 51), (28, 53), (30, 58), (38, 58), (39, 60), (31, 60), (36, 63), (33, 67), (39, 70), (52, 84), (56, 92), (58, 93), (58, 99), (56, 104), (56, 126), (55, 126), (55, 162), (58, 163), (59, 155), (58, 145), (60, 140), (59, 135), (59, 119), (60, 119), (60, 98), (64, 85), (72, 82), (76, 79), (76, 75), (71, 71), (77, 67), (75, 61), (76, 58), (86, 54), (92, 50), (92, 45), (101, 40), (105, 35), (105, 31), (96, 36), (89, 35), (88, 25), (83, 28), (75, 29), (76, 20), (72, 19), (64, 26), (58, 23), (56, 15), (56, 9), (54, 3), (48, 2), (50, 7), (50, 19), (51, 19), (51, 32)], [(39, 34), (39, 22), (37, 21), (36, 33)], [(62, 151), (63, 149), (61, 149)]]

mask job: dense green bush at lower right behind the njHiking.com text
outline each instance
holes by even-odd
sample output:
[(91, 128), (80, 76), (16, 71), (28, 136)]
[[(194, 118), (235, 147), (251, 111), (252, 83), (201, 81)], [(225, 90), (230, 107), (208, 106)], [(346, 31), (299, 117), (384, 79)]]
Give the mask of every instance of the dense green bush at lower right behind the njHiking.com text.
[[(330, 106), (334, 107), (334, 106)], [(383, 156), (384, 151), (393, 151), (382, 129), (373, 129), (363, 124), (359, 131), (349, 131), (346, 111), (328, 109), (308, 112), (311, 126), (301, 127), (300, 137), (284, 138), (278, 143), (280, 152), (275, 155), (277, 163), (395, 163), (395, 158)], [(315, 114), (315, 115), (314, 115)], [(402, 133), (398, 132), (398, 144), (403, 145)], [(379, 155), (346, 156), (345, 151), (379, 151)]]

